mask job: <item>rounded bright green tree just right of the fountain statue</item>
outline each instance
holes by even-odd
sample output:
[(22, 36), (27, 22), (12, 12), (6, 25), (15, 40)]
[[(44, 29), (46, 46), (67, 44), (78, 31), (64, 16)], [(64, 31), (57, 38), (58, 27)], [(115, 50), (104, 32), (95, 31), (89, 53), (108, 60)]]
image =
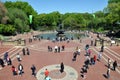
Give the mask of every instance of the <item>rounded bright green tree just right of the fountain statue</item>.
[(63, 15), (63, 24), (67, 30), (80, 30), (86, 27), (86, 21), (81, 13), (66, 13)]

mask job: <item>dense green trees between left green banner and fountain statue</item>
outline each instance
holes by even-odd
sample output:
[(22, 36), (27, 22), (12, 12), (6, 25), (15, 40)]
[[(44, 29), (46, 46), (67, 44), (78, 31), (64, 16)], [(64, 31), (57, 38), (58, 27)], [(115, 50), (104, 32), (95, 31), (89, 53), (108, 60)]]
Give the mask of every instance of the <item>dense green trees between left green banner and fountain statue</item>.
[(60, 24), (60, 19), (61, 14), (59, 12), (52, 12), (35, 16), (34, 22), (37, 24), (38, 29), (56, 29), (56, 26)]

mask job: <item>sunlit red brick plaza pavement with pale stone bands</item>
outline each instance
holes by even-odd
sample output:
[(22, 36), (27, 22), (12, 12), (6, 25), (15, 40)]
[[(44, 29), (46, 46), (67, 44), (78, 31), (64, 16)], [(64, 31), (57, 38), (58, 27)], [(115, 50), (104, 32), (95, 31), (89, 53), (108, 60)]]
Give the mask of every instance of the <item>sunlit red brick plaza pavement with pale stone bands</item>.
[[(48, 52), (47, 46), (51, 46), (54, 48), (55, 45), (62, 46), (65, 45), (65, 51), (61, 51), (60, 53)], [(50, 72), (53, 70), (59, 69), (59, 64), (61, 62), (65, 65), (65, 74), (62, 75), (61, 78), (56, 78), (56, 76), (51, 76), (52, 80), (81, 80), (81, 68), (84, 65), (85, 60), (85, 50), (84, 47), (86, 44), (90, 44), (90, 38), (85, 38), (80, 43), (78, 40), (70, 41), (70, 43), (65, 42), (56, 42), (41, 40), (41, 41), (33, 41), (31, 44), (27, 44), (26, 47), (30, 49), (30, 55), (22, 55), (21, 49), (22, 47), (12, 47), (12, 51), (10, 51), (10, 55), (13, 60), (13, 65), (17, 68), (19, 62), (16, 59), (16, 53), (20, 52), (22, 56), (21, 64), (24, 66), (24, 74), (22, 76), (13, 76), (11, 71), (11, 66), (5, 66), (0, 70), (0, 79), (2, 80), (44, 80), (44, 69), (48, 68)], [(72, 61), (73, 52), (76, 50), (76, 47), (79, 46), (81, 49), (81, 54), (77, 56), (76, 61)], [(100, 46), (91, 46), (92, 55), (97, 55), (100, 50)], [(11, 48), (9, 48), (11, 49)], [(8, 50), (9, 50), (8, 49)], [(110, 49), (110, 50), (109, 50)], [(19, 51), (20, 50), (20, 51)], [(5, 49), (6, 51), (6, 49)], [(120, 47), (119, 46), (107, 46), (105, 48), (103, 58), (100, 62), (96, 62), (95, 65), (89, 66), (88, 72), (86, 75), (86, 80), (107, 80), (105, 78), (107, 67), (107, 59), (110, 57), (112, 60), (117, 60), (120, 63)], [(37, 77), (31, 75), (30, 67), (34, 64), (37, 68)], [(69, 70), (70, 69), (70, 70)], [(111, 70), (111, 76), (109, 80), (119, 80), (119, 67), (118, 71)], [(69, 72), (70, 71), (70, 72)], [(68, 73), (68, 77), (67, 77)], [(54, 74), (54, 71), (53, 71)], [(52, 74), (52, 75), (53, 75)], [(6, 77), (6, 75), (8, 75)], [(59, 76), (59, 74), (57, 75)], [(73, 79), (75, 77), (75, 79)]]

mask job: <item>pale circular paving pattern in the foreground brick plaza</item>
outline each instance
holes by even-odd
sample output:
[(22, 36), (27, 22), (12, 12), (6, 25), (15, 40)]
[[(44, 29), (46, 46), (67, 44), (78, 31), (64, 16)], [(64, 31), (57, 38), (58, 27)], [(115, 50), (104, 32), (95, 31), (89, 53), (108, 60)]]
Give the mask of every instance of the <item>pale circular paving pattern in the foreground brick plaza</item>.
[[(37, 80), (44, 80), (45, 78), (45, 75), (44, 75), (44, 71), (45, 69), (48, 69), (50, 73), (54, 72), (55, 70), (59, 71), (60, 70), (60, 64), (55, 64), (55, 65), (48, 65), (48, 66), (45, 66), (43, 67), (42, 69), (40, 69), (38, 72), (37, 72)], [(57, 72), (59, 73), (59, 72)], [(53, 76), (50, 76), (52, 78), (52, 80), (77, 80), (78, 79), (78, 73), (77, 71), (70, 67), (70, 66), (67, 66), (67, 65), (64, 65), (64, 73), (53, 73), (55, 75), (55, 77), (53, 78)], [(57, 76), (61, 76), (62, 74), (65, 74), (65, 76), (63, 76), (62, 78), (58, 78)]]

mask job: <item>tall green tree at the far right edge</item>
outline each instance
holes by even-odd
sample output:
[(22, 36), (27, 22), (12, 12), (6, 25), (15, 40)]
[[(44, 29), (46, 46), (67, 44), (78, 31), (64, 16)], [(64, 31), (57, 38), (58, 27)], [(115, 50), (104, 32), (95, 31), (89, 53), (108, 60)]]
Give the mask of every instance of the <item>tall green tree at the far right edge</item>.
[(119, 29), (119, 25), (117, 22), (120, 22), (120, 0), (109, 0), (108, 1), (108, 14), (106, 15), (105, 19), (107, 21), (108, 26), (110, 26), (110, 30)]

